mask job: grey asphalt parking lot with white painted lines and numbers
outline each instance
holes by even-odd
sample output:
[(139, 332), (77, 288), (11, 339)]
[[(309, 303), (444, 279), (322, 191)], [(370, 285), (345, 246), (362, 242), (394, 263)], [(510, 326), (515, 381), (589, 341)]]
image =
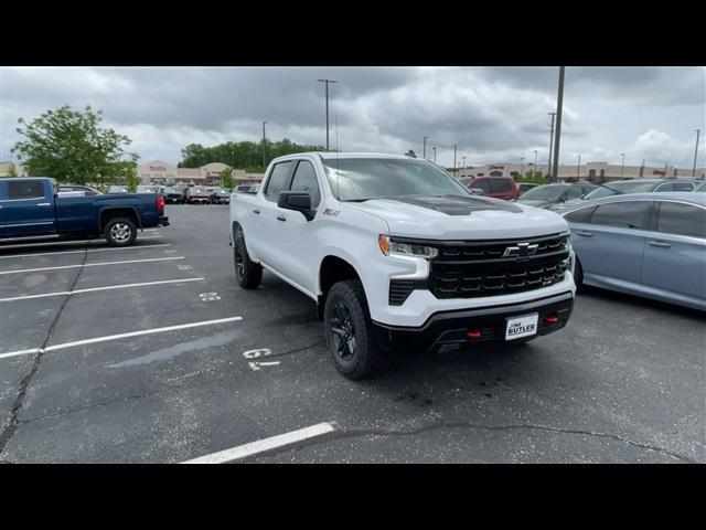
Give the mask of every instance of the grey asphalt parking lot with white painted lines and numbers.
[[(579, 293), (525, 346), (397, 351), (340, 375), (313, 303), (271, 274), (240, 289), (227, 205), (168, 205), (135, 246), (0, 246), (0, 460), (706, 462), (706, 320)], [(245, 455), (245, 456), (243, 456)]]

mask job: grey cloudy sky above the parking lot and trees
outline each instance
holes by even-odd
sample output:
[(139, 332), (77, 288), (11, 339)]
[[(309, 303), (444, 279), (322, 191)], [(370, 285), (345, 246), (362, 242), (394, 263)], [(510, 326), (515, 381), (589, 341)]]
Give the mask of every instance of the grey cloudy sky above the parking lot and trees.
[[(90, 104), (128, 135), (140, 161), (176, 163), (189, 144), (270, 139), (325, 142), (323, 85), (331, 85), (331, 145), (405, 152), (452, 165), (546, 163), (558, 68), (552, 67), (1, 67), (0, 160), (26, 120)], [(706, 166), (706, 68), (567, 67), (561, 163)]]

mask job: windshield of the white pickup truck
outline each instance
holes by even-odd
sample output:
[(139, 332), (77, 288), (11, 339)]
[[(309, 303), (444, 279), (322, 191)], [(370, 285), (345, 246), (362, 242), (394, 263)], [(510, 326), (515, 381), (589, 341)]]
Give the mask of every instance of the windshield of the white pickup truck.
[(468, 194), (456, 179), (424, 160), (341, 158), (323, 160), (323, 167), (331, 192), (340, 201)]

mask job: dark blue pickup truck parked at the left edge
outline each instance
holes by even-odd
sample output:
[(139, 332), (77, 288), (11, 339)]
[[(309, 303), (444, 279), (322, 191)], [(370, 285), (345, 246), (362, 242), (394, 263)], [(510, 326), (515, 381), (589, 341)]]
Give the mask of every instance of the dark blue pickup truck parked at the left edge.
[(168, 225), (159, 193), (62, 197), (53, 179), (0, 179), (0, 240), (104, 235), (127, 246), (138, 230)]

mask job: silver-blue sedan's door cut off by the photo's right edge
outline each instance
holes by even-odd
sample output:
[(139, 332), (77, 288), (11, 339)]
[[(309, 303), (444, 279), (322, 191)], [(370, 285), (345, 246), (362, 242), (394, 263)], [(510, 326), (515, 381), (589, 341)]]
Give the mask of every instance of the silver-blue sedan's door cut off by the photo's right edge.
[(706, 209), (659, 201), (646, 240), (642, 283), (677, 297), (706, 300)]

